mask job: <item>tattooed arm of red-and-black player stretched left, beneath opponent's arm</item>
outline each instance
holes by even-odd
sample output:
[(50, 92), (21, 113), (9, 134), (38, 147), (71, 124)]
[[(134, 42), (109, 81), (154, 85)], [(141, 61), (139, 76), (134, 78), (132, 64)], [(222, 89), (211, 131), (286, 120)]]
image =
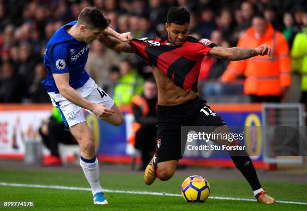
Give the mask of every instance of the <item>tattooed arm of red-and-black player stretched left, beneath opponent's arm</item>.
[(98, 39), (100, 43), (106, 46), (109, 49), (114, 51), (123, 51), (126, 53), (134, 53), (133, 49), (130, 47), (128, 43), (121, 42), (120, 40), (102, 34)]

